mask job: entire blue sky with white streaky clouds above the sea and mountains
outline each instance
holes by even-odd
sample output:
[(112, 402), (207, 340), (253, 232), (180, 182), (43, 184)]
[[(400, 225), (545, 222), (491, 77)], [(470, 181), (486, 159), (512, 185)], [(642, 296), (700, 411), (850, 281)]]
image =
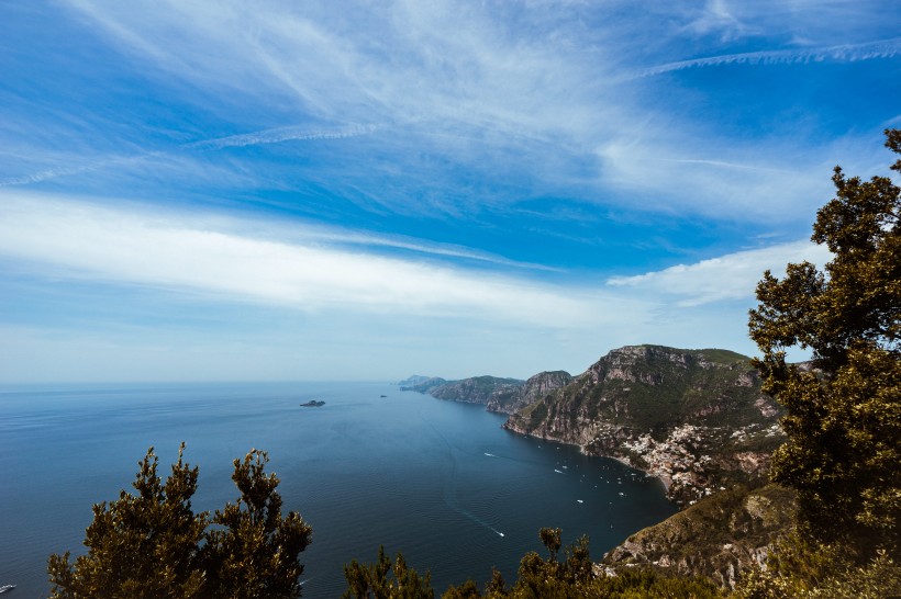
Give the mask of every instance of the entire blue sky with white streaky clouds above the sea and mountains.
[(4, 1), (0, 383), (753, 355), (833, 167), (890, 174), (897, 8)]

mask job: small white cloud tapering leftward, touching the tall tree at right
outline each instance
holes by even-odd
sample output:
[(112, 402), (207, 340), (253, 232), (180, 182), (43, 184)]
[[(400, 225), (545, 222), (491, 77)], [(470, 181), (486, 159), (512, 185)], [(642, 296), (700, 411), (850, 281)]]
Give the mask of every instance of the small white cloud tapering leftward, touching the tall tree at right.
[(678, 264), (636, 276), (614, 276), (608, 285), (671, 298), (677, 306), (693, 307), (753, 296), (765, 270), (777, 276), (788, 262), (809, 261), (822, 268), (830, 258), (825, 246), (794, 241), (760, 249), (739, 251)]

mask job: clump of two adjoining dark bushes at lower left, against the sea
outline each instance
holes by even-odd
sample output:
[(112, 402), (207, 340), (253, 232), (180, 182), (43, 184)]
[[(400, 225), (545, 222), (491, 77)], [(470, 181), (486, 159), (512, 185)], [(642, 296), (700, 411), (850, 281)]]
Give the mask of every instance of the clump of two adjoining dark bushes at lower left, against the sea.
[(52, 598), (300, 597), (298, 557), (312, 529), (294, 512), (282, 517), (266, 452), (235, 460), (241, 496), (211, 517), (191, 509), (198, 468), (182, 461), (183, 449), (164, 482), (151, 448), (132, 484), (137, 494), (93, 506), (88, 553), (49, 557)]

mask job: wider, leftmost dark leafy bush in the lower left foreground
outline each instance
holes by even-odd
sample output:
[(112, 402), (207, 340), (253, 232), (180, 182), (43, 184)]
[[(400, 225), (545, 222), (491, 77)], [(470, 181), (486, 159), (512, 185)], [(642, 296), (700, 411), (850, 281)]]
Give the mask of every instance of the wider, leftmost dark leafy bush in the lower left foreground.
[(68, 552), (49, 558), (52, 598), (198, 596), (204, 583), (198, 543), (207, 513), (191, 510), (198, 468), (183, 462), (183, 451), (182, 443), (164, 484), (151, 448), (132, 484), (137, 495), (123, 490), (115, 501), (93, 506), (93, 522), (85, 538), (88, 553), (75, 563)]

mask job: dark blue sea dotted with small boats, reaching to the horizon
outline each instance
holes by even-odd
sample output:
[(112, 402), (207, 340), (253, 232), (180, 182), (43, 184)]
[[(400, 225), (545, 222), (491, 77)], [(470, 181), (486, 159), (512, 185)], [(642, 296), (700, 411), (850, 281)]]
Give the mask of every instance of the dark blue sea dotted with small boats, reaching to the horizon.
[[(301, 407), (310, 400), (321, 407)], [(104, 384), (0, 387), (0, 586), (49, 592), (53, 553), (86, 552), (91, 506), (114, 500), (153, 447), (159, 473), (200, 468), (194, 510), (235, 501), (235, 459), (268, 452), (283, 510), (313, 529), (301, 554), (303, 596), (336, 598), (344, 564), (379, 546), (436, 592), (494, 566), (545, 554), (538, 529), (591, 556), (676, 512), (659, 481), (576, 448), (501, 428), (483, 406), (401, 392), (389, 383)]]

